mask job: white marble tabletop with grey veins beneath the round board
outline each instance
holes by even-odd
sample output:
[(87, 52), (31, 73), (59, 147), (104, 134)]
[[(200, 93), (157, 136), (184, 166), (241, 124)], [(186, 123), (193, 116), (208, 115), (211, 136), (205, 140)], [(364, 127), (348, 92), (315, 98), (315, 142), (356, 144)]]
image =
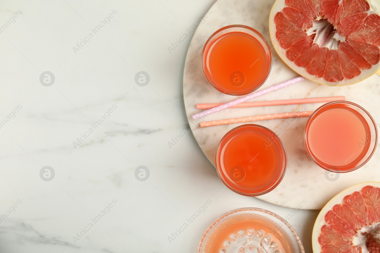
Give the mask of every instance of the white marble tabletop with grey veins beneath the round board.
[[(22, 106), (0, 129), (0, 215), (22, 201), (0, 224), (0, 252), (190, 253), (208, 226), (232, 209), (291, 214), (292, 209), (224, 188), (191, 133), (169, 148), (188, 127), (182, 78), (191, 38), (172, 54), (168, 47), (212, 4), (0, 3), (0, 26), (22, 11), (0, 34), (0, 121)], [(111, 23), (75, 54), (73, 47), (114, 9)], [(40, 83), (44, 71), (55, 75), (50, 87)], [(149, 85), (136, 85), (139, 71), (149, 73)], [(117, 109), (111, 118), (75, 149), (73, 141), (112, 105)], [(135, 178), (141, 165), (150, 170), (145, 182)], [(50, 182), (40, 178), (44, 166), (54, 168)], [(75, 243), (76, 233), (112, 200), (117, 204), (111, 213)], [(206, 212), (170, 243), (171, 233), (207, 200), (212, 204)], [(303, 210), (290, 218), (306, 252), (312, 252), (317, 214)]]

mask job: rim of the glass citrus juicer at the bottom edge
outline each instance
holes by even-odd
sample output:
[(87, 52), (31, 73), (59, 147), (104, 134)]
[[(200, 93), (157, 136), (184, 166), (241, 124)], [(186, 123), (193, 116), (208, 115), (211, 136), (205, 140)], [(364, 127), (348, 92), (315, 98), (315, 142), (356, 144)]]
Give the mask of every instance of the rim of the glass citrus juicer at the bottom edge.
[[(269, 214), (269, 215), (272, 215), (274, 218), (277, 218), (278, 220), (280, 220), (280, 222), (283, 222), (289, 229), (290, 231), (293, 233), (293, 236), (294, 238), (296, 239), (297, 243), (298, 243), (298, 248), (300, 250), (300, 253), (305, 253), (305, 250), (304, 250), (304, 247), (302, 245), (302, 242), (301, 242), (301, 239), (300, 237), (298, 236), (296, 230), (290, 225), (290, 223), (288, 223), (284, 218), (282, 218), (280, 215), (278, 214), (275, 214), (274, 212), (271, 212), (271, 211), (268, 211), (266, 209), (262, 209), (262, 208), (258, 208), (258, 207), (242, 207), (242, 208), (237, 208), (237, 209), (234, 209), (232, 211), (229, 211), (229, 212), (226, 212), (224, 213), (222, 216), (218, 217), (216, 220), (214, 220), (213, 223), (211, 223), (211, 225), (206, 229), (206, 232), (203, 234), (202, 236), (202, 239), (201, 241), (199, 242), (199, 246), (198, 246), (198, 253), (201, 253), (201, 249), (202, 249), (202, 245), (203, 245), (203, 241), (204, 239), (206, 239), (206, 236), (209, 234), (209, 232), (222, 220), (224, 219), (227, 219), (228, 216), (230, 215), (233, 215), (233, 214), (236, 214), (238, 212), (244, 212), (244, 211), (250, 211), (250, 212), (255, 212), (255, 213), (260, 213), (260, 212), (264, 212), (266, 214)], [(295, 246), (295, 245), (294, 245)]]

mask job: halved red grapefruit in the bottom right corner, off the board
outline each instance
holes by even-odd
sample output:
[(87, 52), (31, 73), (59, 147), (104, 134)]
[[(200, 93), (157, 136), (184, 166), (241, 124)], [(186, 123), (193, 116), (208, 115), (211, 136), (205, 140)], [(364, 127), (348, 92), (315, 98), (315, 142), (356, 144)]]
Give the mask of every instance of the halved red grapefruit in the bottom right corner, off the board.
[(364, 182), (332, 198), (313, 228), (314, 253), (380, 252), (380, 182)]

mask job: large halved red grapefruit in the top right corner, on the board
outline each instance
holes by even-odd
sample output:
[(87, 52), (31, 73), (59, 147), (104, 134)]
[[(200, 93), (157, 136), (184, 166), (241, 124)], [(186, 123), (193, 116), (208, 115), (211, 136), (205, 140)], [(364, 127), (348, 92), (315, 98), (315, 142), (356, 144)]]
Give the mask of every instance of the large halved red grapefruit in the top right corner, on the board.
[(317, 83), (357, 83), (380, 69), (380, 0), (276, 0), (272, 44), (285, 63)]

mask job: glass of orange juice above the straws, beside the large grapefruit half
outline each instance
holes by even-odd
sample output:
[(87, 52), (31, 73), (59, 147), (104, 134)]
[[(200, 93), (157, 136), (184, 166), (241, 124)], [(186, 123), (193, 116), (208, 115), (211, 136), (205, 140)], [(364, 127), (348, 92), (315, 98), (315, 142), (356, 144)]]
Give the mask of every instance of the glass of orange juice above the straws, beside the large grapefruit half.
[(234, 96), (249, 94), (269, 76), (271, 48), (255, 29), (229, 25), (217, 30), (204, 44), (202, 68), (218, 91)]

